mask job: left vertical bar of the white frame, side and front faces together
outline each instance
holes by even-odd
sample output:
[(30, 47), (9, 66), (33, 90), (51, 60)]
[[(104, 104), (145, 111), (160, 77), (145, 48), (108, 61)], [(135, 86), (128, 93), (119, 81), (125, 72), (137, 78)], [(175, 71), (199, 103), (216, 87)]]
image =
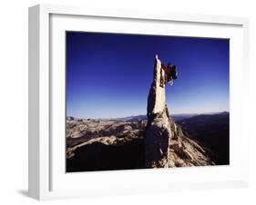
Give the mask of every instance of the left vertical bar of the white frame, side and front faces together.
[(42, 5), (29, 8), (28, 195), (37, 200), (46, 198), (50, 181), (48, 17)]

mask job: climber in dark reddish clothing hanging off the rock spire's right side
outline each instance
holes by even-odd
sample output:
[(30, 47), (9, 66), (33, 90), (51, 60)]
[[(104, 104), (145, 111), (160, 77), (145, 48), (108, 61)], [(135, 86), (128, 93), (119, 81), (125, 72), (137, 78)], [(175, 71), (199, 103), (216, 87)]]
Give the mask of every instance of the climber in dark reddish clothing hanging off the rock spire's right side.
[(168, 63), (165, 66), (163, 63), (161, 64), (161, 78), (160, 78), (160, 86), (164, 87), (166, 83), (170, 85), (173, 84), (173, 81), (176, 80), (178, 77), (178, 71), (176, 69), (176, 65), (172, 65)]

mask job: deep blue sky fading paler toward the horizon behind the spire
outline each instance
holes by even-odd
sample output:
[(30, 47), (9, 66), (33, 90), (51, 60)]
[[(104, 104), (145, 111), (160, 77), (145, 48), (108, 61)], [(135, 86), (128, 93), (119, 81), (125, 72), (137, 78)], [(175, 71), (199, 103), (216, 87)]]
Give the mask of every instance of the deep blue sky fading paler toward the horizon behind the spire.
[(229, 40), (67, 32), (67, 116), (146, 114), (154, 56), (177, 65), (169, 111), (229, 111)]

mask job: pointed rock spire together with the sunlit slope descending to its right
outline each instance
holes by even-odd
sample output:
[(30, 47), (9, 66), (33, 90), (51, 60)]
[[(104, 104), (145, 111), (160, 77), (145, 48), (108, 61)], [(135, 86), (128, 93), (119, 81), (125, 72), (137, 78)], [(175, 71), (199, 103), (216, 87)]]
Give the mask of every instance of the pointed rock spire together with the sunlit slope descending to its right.
[(148, 124), (145, 130), (145, 161), (148, 168), (213, 164), (197, 142), (185, 137), (169, 117), (165, 85), (160, 86), (161, 62), (156, 56), (154, 77), (148, 94)]

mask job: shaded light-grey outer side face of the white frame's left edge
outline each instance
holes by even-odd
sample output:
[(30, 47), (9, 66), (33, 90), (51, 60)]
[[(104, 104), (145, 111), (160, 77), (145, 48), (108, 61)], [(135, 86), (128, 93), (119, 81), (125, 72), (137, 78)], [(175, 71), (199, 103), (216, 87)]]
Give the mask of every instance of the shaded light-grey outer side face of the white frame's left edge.
[(39, 6), (28, 16), (28, 195), (39, 198)]

